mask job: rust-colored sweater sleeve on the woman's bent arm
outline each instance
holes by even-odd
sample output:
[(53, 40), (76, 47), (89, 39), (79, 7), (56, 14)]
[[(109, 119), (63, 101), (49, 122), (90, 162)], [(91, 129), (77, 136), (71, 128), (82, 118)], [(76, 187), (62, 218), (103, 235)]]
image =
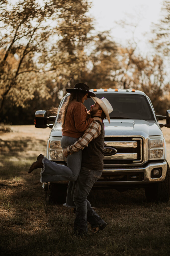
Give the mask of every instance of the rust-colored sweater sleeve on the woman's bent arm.
[(84, 132), (93, 121), (93, 118), (87, 118), (87, 109), (82, 103), (74, 108), (74, 123), (78, 131)]

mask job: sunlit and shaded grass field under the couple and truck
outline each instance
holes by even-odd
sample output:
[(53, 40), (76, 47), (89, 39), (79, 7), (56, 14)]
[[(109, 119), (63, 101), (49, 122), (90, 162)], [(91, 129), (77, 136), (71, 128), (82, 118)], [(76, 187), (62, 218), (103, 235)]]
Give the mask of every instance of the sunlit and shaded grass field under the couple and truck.
[[(91, 191), (92, 206), (109, 225), (72, 236), (73, 210), (47, 204), (40, 169), (28, 174), (36, 156), (46, 154), (50, 129), (11, 128), (0, 133), (0, 255), (170, 255), (170, 201), (148, 203), (143, 189)], [(170, 129), (162, 131), (170, 163)]]

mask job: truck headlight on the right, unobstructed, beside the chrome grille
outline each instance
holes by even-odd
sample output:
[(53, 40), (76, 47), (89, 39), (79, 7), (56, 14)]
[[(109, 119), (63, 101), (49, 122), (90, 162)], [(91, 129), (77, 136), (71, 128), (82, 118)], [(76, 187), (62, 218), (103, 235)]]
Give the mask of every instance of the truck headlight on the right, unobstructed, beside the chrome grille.
[(152, 136), (149, 138), (149, 158), (158, 159), (164, 157), (164, 138), (161, 136)]

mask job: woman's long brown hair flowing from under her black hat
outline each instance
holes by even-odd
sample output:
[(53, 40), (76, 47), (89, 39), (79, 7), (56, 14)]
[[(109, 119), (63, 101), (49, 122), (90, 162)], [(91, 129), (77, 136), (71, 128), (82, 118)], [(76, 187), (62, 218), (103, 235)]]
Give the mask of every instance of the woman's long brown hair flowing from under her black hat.
[[(82, 102), (82, 98), (86, 95), (86, 92), (83, 91), (75, 91), (72, 92), (68, 97), (66, 102), (62, 105), (60, 112), (59, 112), (59, 120), (62, 122), (62, 127), (64, 127), (65, 122), (66, 122), (66, 114), (68, 110), (68, 106), (70, 102), (72, 101), (77, 101), (77, 102)], [(51, 113), (57, 114), (58, 113), (58, 108), (52, 108), (50, 110)]]

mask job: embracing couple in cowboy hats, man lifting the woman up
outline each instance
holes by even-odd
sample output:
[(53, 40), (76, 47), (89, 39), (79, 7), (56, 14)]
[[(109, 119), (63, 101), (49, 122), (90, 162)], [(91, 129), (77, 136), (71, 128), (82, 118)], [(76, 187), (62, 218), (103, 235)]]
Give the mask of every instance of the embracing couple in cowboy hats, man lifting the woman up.
[[(89, 91), (84, 83), (75, 84), (74, 88), (66, 89), (70, 95), (63, 106), (61, 146), (67, 157), (67, 166), (49, 161), (40, 154), (30, 169), (41, 168), (41, 182), (69, 180), (66, 203), (67, 207), (75, 208), (74, 234), (82, 236), (87, 233), (87, 222), (92, 233), (97, 233), (107, 226), (91, 207), (87, 196), (100, 178), (103, 171), (104, 124), (112, 106), (105, 98), (99, 99)], [(87, 112), (84, 101), (87, 98), (95, 102)]]

